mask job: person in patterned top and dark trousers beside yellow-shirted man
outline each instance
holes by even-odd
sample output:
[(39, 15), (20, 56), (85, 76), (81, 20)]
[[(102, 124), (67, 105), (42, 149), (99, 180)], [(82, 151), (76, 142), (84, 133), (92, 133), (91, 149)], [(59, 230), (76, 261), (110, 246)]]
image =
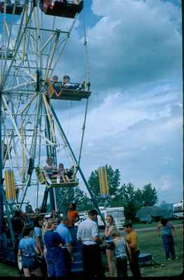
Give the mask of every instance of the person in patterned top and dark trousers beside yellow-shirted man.
[(122, 277), (123, 279), (127, 279), (127, 252), (129, 254), (129, 261), (132, 260), (132, 253), (129, 248), (129, 245), (124, 237), (120, 236), (120, 233), (113, 229), (111, 232), (111, 235), (113, 237), (113, 244), (115, 246), (114, 252), (115, 252), (115, 258), (116, 258), (116, 267), (118, 271), (118, 277)]

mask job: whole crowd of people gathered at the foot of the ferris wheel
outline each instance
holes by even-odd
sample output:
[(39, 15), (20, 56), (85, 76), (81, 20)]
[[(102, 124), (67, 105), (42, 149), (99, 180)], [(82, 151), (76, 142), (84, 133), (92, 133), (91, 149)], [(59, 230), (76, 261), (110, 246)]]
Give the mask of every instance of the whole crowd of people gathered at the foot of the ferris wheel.
[[(19, 243), (18, 255), (22, 257), (24, 276), (67, 277), (71, 276), (73, 260), (73, 244), (78, 242), (83, 255), (83, 273), (85, 279), (104, 279), (105, 270), (102, 262), (102, 251), (105, 249), (108, 268), (111, 276), (127, 278), (127, 263), (132, 274), (141, 277), (139, 269), (138, 237), (132, 224), (125, 225), (127, 235), (115, 227), (113, 216), (106, 217), (104, 237), (99, 237), (97, 211), (92, 209), (88, 217), (78, 225), (79, 220), (76, 204), (71, 204), (67, 216), (60, 218), (34, 218), (34, 227), (24, 226), (22, 239)], [(75, 245), (76, 246), (76, 245)]]

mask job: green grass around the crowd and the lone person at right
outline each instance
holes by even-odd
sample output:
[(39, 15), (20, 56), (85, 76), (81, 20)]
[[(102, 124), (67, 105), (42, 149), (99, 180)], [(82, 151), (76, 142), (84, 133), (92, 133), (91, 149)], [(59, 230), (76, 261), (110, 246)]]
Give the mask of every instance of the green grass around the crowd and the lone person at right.
[[(152, 225), (153, 227), (154, 225)], [(102, 233), (102, 232), (101, 232)], [(175, 251), (177, 260), (166, 260), (164, 255), (164, 248), (161, 237), (157, 236), (156, 230), (141, 231), (139, 235), (139, 248), (141, 253), (151, 253), (153, 260), (160, 265), (143, 266), (141, 267), (142, 276), (178, 276), (183, 272), (183, 226), (176, 228)], [(103, 258), (104, 265), (108, 276), (108, 268), (106, 265), (106, 258)], [(161, 266), (162, 264), (162, 266)], [(19, 276), (15, 267), (9, 266), (0, 262), (0, 276)], [(129, 271), (129, 276), (132, 276)]]

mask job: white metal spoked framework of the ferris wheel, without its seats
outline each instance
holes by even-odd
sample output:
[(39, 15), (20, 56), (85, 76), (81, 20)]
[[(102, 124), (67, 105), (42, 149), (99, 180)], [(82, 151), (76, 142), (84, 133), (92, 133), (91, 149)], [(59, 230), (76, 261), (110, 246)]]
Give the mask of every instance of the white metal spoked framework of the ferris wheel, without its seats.
[[(69, 20), (67, 29), (56, 29), (55, 17), (44, 15), (40, 1), (18, 2), (22, 6), (20, 15), (15, 15), (17, 1), (13, 3), (12, 13), (6, 13), (8, 1), (5, 0), (0, 13), (2, 169), (3, 177), (7, 169), (14, 171), (19, 202), (24, 202), (31, 187), (35, 190), (35, 206), (38, 207), (39, 182), (34, 176), (34, 167), (41, 165), (42, 158), (47, 156), (54, 158), (57, 165), (57, 150), (66, 148), (71, 165), (78, 166), (87, 186), (48, 98), (45, 83), (61, 61), (78, 14)], [(49, 18), (49, 28), (45, 27), (45, 17)], [(90, 191), (88, 186), (87, 189)], [(53, 196), (57, 209), (55, 189)]]

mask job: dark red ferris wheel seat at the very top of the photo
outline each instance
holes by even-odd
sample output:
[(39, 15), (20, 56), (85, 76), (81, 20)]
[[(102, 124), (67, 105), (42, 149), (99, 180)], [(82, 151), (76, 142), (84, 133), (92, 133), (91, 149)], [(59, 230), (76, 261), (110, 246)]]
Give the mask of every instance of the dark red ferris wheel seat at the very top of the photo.
[(83, 1), (79, 4), (74, 4), (73, 1), (67, 0), (64, 2), (50, 1), (50, 4), (46, 6), (45, 0), (40, 1), (40, 8), (45, 15), (54, 15), (62, 18), (75, 18), (76, 13), (80, 13), (83, 10)]

